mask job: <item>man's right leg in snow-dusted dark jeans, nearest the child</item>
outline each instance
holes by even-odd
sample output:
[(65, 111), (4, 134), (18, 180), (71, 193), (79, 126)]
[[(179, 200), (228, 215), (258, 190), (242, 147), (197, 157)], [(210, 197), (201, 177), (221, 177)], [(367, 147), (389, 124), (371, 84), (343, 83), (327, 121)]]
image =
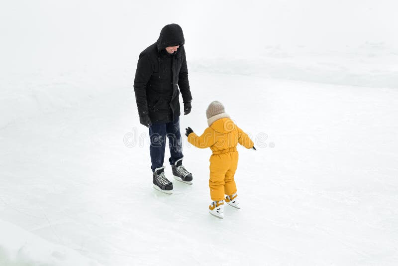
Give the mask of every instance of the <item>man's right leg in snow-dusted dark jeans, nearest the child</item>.
[(183, 145), (180, 133), (180, 118), (177, 117), (174, 121), (166, 124), (167, 137), (169, 138), (170, 158), (169, 162), (174, 165), (176, 161), (182, 159)]

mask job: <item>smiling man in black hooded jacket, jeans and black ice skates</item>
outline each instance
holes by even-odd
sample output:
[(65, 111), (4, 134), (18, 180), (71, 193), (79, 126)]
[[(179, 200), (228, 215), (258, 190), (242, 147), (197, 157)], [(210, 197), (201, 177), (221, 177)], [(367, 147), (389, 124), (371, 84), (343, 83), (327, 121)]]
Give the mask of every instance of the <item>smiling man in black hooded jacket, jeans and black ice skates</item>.
[[(176, 180), (192, 184), (192, 173), (183, 166), (180, 133), (180, 92), (184, 115), (191, 112), (191, 91), (184, 49), (184, 34), (178, 24), (162, 28), (159, 39), (141, 52), (134, 78), (140, 123), (149, 128), (153, 187), (171, 194), (173, 183), (164, 173), (166, 136)], [(178, 85), (178, 86), (177, 86)], [(179, 90), (180, 88), (180, 90)]]

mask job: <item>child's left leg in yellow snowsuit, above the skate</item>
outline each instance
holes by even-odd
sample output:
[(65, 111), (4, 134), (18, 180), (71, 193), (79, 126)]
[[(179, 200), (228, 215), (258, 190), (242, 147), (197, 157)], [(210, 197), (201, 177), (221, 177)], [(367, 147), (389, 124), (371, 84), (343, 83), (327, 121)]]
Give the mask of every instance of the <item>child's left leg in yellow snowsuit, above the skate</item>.
[(213, 201), (224, 199), (224, 179), (228, 167), (225, 167), (226, 161), (219, 155), (210, 156), (210, 179), (208, 186), (210, 188), (210, 197)]

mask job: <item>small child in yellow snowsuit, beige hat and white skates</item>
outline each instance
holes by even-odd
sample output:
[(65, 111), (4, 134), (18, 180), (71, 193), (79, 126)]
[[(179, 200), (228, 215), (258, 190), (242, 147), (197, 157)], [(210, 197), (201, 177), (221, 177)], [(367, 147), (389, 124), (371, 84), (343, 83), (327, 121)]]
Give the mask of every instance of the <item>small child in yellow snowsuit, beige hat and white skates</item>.
[(208, 128), (201, 136), (186, 129), (188, 141), (198, 148), (213, 151), (210, 156), (210, 197), (213, 201), (209, 208), (210, 214), (224, 218), (224, 194), (227, 204), (240, 209), (237, 202), (234, 174), (238, 165), (237, 144), (246, 148), (254, 147), (249, 136), (239, 129), (225, 113), (224, 106), (217, 101), (210, 103), (206, 110)]

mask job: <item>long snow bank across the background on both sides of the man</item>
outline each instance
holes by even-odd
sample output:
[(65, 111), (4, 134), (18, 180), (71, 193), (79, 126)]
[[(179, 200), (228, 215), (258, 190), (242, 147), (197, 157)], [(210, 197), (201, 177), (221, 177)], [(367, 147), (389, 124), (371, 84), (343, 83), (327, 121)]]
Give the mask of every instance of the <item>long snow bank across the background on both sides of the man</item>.
[[(189, 60), (195, 72), (249, 75), (275, 79), (398, 88), (398, 53), (383, 45), (366, 44), (356, 52), (307, 54), (268, 47), (258, 59), (214, 58)], [(189, 54), (188, 54), (189, 56)], [(92, 98), (123, 90), (133, 95), (136, 56), (125, 61), (65, 64), (54, 69), (26, 69), (0, 79), (0, 128), (65, 108), (80, 108)], [(237, 57), (239, 58), (239, 57)], [(100, 65), (99, 65), (100, 64)]]

